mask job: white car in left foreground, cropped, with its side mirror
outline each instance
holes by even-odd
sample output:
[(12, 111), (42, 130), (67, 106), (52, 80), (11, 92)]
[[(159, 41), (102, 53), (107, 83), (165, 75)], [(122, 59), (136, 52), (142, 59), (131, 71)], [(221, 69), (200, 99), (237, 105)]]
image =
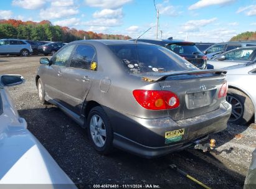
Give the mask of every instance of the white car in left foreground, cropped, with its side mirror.
[(76, 188), (27, 130), (26, 120), (19, 117), (12, 104), (6, 87), (21, 83), (24, 78), (20, 75), (0, 75), (0, 188), (7, 184), (47, 184), (47, 188), (62, 188), (65, 184), (67, 188)]

